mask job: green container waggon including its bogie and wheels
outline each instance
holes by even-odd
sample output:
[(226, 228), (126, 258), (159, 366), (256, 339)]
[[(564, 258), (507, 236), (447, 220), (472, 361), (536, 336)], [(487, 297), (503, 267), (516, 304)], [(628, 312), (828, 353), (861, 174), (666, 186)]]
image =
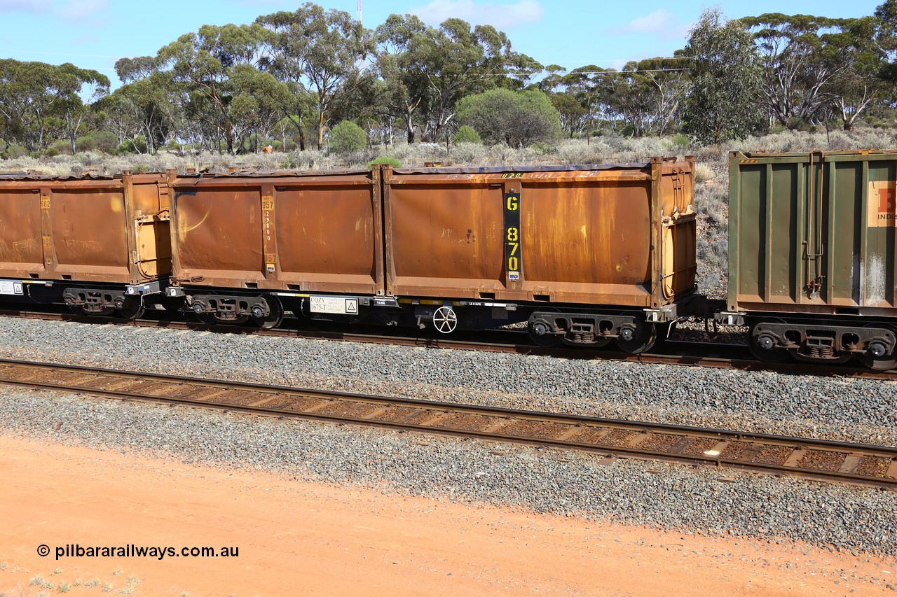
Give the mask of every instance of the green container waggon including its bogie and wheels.
[(729, 156), (724, 323), (760, 359), (897, 367), (895, 151)]

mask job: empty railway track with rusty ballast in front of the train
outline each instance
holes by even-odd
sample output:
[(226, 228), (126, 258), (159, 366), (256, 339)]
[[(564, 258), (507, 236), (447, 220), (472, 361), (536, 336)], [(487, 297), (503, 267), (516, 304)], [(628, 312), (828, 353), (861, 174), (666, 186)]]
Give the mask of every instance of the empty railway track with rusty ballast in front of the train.
[(897, 489), (897, 448), (0, 359), (0, 384)]

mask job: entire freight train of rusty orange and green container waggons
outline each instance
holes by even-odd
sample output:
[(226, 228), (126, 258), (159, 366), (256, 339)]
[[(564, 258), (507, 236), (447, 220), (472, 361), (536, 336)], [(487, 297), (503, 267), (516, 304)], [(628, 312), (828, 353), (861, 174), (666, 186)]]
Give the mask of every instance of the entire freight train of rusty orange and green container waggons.
[[(758, 357), (897, 366), (895, 164), (884, 151), (731, 155), (717, 318), (749, 325)], [(0, 297), (261, 327), (288, 313), (438, 333), (526, 322), (539, 345), (639, 353), (708, 304), (693, 190), (693, 158), (6, 176)]]

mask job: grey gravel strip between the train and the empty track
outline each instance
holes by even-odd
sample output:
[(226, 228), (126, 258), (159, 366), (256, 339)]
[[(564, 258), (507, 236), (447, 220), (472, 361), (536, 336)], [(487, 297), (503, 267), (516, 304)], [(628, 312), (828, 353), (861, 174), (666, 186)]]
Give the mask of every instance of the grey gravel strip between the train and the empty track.
[(897, 383), (0, 317), (0, 357), (897, 445)]

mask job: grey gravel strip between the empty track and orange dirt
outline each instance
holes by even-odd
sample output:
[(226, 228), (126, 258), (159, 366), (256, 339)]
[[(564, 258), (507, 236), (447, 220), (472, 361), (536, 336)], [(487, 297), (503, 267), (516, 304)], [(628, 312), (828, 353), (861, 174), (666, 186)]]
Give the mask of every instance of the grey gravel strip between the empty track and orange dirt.
[(4, 391), (0, 433), (384, 493), (897, 554), (897, 493), (596, 454)]

